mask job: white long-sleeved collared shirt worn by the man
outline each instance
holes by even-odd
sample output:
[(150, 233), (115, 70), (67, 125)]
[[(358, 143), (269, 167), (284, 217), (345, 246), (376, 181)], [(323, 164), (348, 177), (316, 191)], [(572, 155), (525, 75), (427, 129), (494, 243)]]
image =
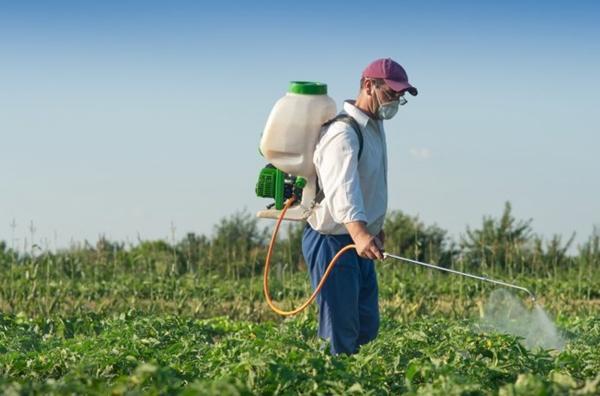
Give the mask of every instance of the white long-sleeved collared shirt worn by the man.
[(348, 123), (323, 128), (313, 162), (325, 197), (308, 223), (322, 234), (347, 234), (345, 223), (364, 221), (373, 235), (383, 228), (387, 211), (387, 147), (383, 122), (344, 102), (344, 111), (360, 126), (363, 149)]

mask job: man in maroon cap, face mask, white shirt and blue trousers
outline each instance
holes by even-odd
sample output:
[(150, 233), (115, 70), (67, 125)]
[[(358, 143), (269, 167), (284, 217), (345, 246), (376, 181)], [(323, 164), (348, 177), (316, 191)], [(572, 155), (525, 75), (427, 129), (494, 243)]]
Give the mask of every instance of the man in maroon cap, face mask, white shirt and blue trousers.
[(389, 58), (372, 62), (362, 73), (356, 101), (344, 103), (344, 112), (355, 122), (325, 126), (315, 149), (313, 162), (324, 198), (302, 237), (313, 288), (333, 256), (348, 244), (356, 245), (356, 251), (341, 256), (317, 299), (319, 336), (330, 340), (334, 355), (356, 353), (379, 330), (373, 260), (383, 259), (387, 210), (383, 120), (406, 103), (406, 92), (417, 95), (402, 66)]

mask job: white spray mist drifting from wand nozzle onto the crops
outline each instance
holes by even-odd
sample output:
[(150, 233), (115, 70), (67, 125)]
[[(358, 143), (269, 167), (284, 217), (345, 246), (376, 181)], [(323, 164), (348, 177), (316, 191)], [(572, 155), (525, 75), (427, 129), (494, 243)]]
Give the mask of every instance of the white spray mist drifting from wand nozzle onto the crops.
[(546, 312), (537, 303), (532, 310), (504, 289), (490, 294), (484, 306), (482, 322), (486, 327), (523, 338), (528, 349), (562, 350), (564, 338)]

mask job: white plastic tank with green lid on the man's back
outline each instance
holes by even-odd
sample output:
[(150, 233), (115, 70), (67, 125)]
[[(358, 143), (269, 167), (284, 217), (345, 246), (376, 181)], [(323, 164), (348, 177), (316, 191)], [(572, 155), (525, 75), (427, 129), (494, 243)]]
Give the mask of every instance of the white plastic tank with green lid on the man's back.
[(271, 110), (260, 152), (286, 173), (313, 176), (313, 154), (321, 125), (336, 113), (335, 102), (327, 96), (326, 84), (292, 81), (286, 95)]

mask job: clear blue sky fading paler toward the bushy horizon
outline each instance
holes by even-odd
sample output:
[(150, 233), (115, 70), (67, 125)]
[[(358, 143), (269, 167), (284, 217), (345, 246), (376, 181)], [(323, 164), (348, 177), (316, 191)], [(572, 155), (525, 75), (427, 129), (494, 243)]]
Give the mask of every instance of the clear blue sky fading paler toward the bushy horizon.
[(457, 237), (509, 200), (580, 242), (600, 224), (598, 21), (593, 1), (2, 2), (0, 240), (210, 235), (267, 203), (257, 147), (290, 80), (339, 107), (391, 57), (419, 96), (386, 123), (390, 209)]

